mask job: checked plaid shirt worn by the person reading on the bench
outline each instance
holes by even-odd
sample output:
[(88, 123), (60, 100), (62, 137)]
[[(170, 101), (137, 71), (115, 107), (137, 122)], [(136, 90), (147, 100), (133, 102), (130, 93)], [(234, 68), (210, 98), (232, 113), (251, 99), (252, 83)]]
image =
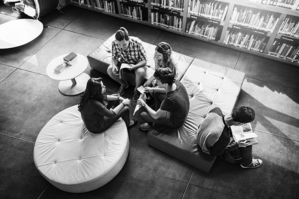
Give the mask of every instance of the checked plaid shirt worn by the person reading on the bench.
[(145, 60), (147, 61), (147, 53), (137, 37), (134, 39), (130, 37), (128, 50), (123, 50), (115, 41), (112, 42), (112, 59), (121, 58), (121, 63), (138, 64)]

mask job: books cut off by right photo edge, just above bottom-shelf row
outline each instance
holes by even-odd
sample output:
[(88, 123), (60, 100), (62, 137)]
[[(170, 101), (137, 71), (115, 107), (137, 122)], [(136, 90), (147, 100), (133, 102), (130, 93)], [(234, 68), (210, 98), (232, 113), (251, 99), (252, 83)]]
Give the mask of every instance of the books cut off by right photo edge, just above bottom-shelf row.
[(299, 18), (287, 16), (282, 23), (278, 33), (299, 38)]

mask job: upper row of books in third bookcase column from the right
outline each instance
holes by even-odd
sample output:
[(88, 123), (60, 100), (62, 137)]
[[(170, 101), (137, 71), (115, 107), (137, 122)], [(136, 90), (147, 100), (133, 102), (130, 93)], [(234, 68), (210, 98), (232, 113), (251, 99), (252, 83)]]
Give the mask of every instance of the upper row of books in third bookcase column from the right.
[(228, 3), (215, 0), (200, 1), (190, 0), (188, 5), (188, 13), (199, 16), (224, 20), (228, 10)]

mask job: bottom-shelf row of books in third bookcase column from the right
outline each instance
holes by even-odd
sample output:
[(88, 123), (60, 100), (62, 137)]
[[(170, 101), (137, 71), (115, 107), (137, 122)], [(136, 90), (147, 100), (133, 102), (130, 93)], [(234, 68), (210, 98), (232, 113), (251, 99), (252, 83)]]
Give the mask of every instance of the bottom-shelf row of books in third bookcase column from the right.
[(220, 26), (215, 25), (211, 22), (189, 20), (186, 24), (187, 33), (211, 40), (216, 40), (216, 36), (219, 30)]

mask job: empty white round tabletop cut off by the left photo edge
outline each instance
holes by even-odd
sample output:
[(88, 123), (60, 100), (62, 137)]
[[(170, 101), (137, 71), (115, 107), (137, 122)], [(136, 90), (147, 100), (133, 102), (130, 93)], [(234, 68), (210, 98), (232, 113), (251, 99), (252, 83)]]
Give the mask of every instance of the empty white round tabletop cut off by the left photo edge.
[(15, 19), (0, 24), (0, 49), (22, 46), (37, 38), (43, 24), (35, 19)]

